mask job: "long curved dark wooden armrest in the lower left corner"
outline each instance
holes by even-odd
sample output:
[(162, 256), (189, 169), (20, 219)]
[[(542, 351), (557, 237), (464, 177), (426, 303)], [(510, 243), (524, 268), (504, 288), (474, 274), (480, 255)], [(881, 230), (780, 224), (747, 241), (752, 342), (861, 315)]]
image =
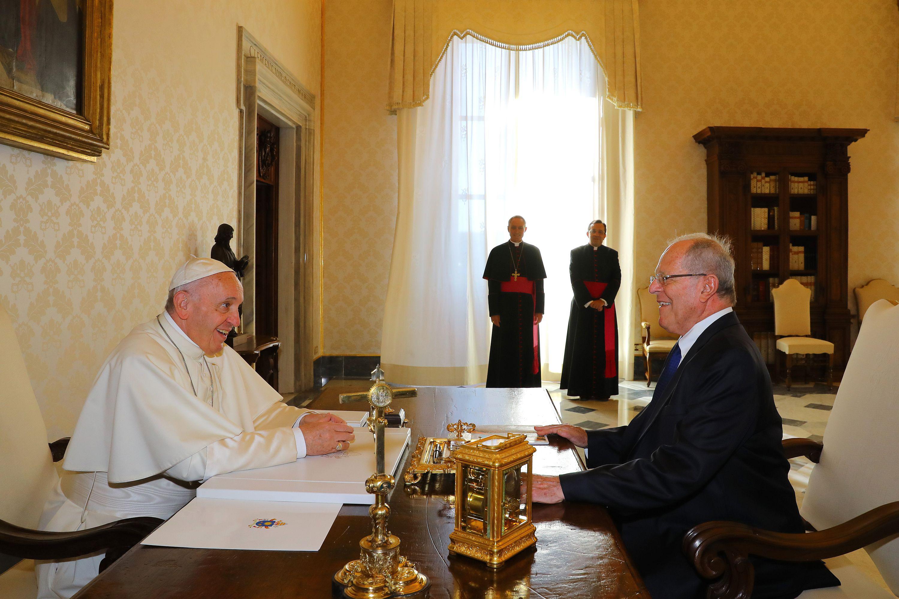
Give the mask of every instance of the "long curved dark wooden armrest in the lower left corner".
[(53, 533), (0, 520), (0, 553), (22, 559), (76, 558), (113, 547), (131, 547), (163, 522), (150, 517), (126, 518), (84, 531)]

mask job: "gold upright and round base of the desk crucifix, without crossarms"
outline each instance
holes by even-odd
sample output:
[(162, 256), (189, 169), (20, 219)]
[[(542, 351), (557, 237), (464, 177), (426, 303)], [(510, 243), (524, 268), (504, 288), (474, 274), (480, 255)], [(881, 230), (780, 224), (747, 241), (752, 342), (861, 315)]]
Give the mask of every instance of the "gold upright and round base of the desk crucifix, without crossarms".
[(387, 530), (390, 507), (387, 494), (394, 488), (394, 477), (384, 471), (384, 427), (386, 410), (393, 400), (387, 383), (378, 380), (368, 393), (369, 431), (375, 436), (376, 472), (365, 481), (365, 490), (375, 496), (369, 507), (372, 531), (360, 542), (360, 557), (353, 559), (334, 575), (334, 582), (343, 586), (343, 595), (352, 599), (386, 599), (396, 595), (411, 595), (431, 585), (414, 564), (399, 552), (400, 541)]

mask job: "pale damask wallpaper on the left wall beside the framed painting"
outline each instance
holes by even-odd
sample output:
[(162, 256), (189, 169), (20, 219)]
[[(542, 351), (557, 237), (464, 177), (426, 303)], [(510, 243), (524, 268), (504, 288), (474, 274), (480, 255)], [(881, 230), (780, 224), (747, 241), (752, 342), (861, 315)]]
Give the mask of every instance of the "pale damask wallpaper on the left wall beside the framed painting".
[(0, 145), (0, 304), (49, 436), (102, 360), (162, 309), (174, 269), (236, 222), (237, 25), (318, 92), (319, 0), (120, 2), (111, 150), (72, 163)]

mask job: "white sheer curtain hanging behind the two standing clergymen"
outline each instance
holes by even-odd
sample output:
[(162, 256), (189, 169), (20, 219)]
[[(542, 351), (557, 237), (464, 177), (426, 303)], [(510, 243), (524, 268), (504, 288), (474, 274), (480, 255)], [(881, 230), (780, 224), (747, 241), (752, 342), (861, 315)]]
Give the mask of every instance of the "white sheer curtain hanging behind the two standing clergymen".
[(601, 122), (621, 110), (603, 101), (604, 85), (584, 40), (516, 51), (454, 38), (431, 99), (398, 112), (399, 206), (381, 342), (389, 380), (485, 381), (482, 274), (515, 214), (527, 219), (525, 242), (540, 248), (547, 268), (543, 376), (557, 380), (572, 297), (569, 251), (606, 212), (601, 154), (610, 153)]

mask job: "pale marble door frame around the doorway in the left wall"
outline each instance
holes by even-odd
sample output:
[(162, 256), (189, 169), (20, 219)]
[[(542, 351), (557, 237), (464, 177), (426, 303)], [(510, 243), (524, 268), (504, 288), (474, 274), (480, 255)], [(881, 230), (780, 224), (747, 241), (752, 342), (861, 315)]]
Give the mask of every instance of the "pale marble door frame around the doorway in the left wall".
[(244, 27), (237, 28), (237, 256), (250, 256), (244, 277), (243, 332), (254, 332), (256, 116), (280, 128), (278, 189), (279, 392), (312, 387), (316, 96)]

